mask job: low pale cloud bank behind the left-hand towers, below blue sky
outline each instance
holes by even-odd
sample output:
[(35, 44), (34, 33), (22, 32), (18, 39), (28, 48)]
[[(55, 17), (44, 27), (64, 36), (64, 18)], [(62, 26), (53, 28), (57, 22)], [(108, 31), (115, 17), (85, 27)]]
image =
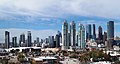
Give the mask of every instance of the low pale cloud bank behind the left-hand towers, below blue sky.
[(40, 39), (44, 39), (48, 36), (54, 36), (57, 33), (56, 30), (31, 30), (31, 29), (29, 30), (29, 29), (16, 29), (16, 28), (0, 29), (0, 43), (4, 43), (5, 31), (10, 32), (11, 38), (17, 36), (18, 40), (20, 34), (22, 33), (24, 33), (27, 38), (27, 31), (31, 31), (33, 40), (36, 39), (36, 37), (39, 37)]

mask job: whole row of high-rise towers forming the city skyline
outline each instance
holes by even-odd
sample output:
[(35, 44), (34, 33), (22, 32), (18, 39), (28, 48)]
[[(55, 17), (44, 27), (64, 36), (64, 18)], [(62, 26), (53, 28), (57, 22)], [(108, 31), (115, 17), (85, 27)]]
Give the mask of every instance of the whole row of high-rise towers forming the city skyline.
[[(68, 22), (65, 20), (62, 24), (62, 32), (58, 31), (57, 33), (55, 33), (55, 35), (48, 35), (46, 38), (44, 38), (44, 43), (46, 42), (46, 39), (50, 39), (50, 41), (52, 42), (54, 39), (54, 37), (56, 37), (56, 35), (62, 34), (62, 43), (66, 43), (69, 42), (69, 46), (76, 46), (79, 45), (82, 42), (88, 42), (91, 39), (93, 40), (97, 40), (98, 43), (102, 43), (104, 42), (103, 40), (105, 40), (106, 38), (104, 37), (108, 37), (107, 39), (113, 39), (114, 38), (114, 21), (108, 21), (107, 22), (107, 32), (105, 34), (105, 31), (102, 31), (102, 27), (99, 26), (98, 27), (98, 34), (95, 35), (96, 31), (95, 31), (95, 24), (87, 24), (86, 25), (86, 29), (84, 28), (83, 24), (79, 24), (78, 25), (78, 31), (76, 32), (76, 23), (74, 23), (74, 21), (71, 21), (70, 24), (68, 24)], [(102, 34), (104, 32), (104, 34)], [(86, 33), (86, 34), (85, 34)], [(27, 34), (25, 33), (21, 33), (18, 37), (18, 41), (17, 41), (17, 36), (10, 36), (11, 32), (9, 31), (5, 31), (5, 43), (7, 42), (12, 42), (14, 46), (14, 44), (16, 42), (18, 42), (17, 44), (23, 44), (26, 43), (26, 46), (30, 47), (30, 43), (36, 43), (38, 41), (39, 37), (35, 37), (35, 39), (33, 39), (32, 37), (34, 35), (31, 35), (31, 31), (27, 31)], [(95, 36), (94, 36), (95, 35)], [(60, 35), (59, 35), (60, 36)], [(53, 38), (53, 40), (51, 39), (51, 37)], [(13, 39), (14, 38), (14, 39)], [(103, 39), (104, 38), (104, 39)], [(10, 41), (12, 39), (12, 41)], [(37, 39), (37, 40), (36, 40)], [(15, 42), (16, 41), (16, 42)], [(59, 41), (60, 42), (60, 41)], [(76, 44), (77, 42), (79, 42), (79, 44)], [(47, 43), (47, 42), (46, 42)], [(15, 45), (16, 46), (16, 45)]]

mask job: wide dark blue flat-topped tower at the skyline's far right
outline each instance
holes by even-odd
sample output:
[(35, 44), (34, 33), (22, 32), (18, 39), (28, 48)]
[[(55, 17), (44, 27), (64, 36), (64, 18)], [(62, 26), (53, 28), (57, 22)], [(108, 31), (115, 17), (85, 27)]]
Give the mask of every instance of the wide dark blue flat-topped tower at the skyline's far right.
[(107, 22), (107, 41), (108, 49), (111, 49), (114, 41), (114, 21)]

